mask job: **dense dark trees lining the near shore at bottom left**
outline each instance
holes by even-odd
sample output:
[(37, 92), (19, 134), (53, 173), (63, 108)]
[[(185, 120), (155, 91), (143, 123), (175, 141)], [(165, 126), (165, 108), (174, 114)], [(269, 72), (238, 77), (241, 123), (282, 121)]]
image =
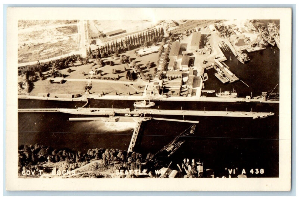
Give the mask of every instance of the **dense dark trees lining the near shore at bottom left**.
[[(18, 153), (19, 174), (22, 173), (22, 170), (43, 170), (43, 164), (46, 162), (56, 163), (55, 166), (61, 170), (72, 170), (86, 164), (92, 159), (102, 159), (103, 166), (114, 164), (111, 167), (115, 169), (147, 169), (148, 172), (154, 172), (154, 170), (159, 169), (163, 165), (163, 162), (152, 153), (143, 156), (137, 152), (127, 154), (126, 151), (119, 149), (95, 148), (88, 150), (86, 154), (67, 148), (57, 150), (52, 147), (35, 144), (34, 146), (20, 145)], [(115, 164), (118, 162), (120, 164)], [(98, 167), (100, 166), (96, 166), (94, 170), (96, 171)]]

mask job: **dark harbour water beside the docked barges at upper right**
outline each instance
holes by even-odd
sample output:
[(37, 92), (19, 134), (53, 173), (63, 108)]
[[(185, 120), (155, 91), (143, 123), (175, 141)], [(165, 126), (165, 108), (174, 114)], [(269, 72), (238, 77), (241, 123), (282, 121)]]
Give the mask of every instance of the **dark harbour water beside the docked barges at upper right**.
[[(274, 53), (275, 52), (275, 53)], [(224, 92), (226, 90), (233, 91), (239, 94), (239, 97), (246, 96), (260, 96), (262, 92), (267, 92), (272, 90), (277, 84), (274, 92), (279, 92), (279, 49), (275, 47), (268, 46), (263, 51), (257, 51), (253, 53), (246, 53), (249, 56), (250, 61), (242, 64), (234, 56), (234, 54), (229, 49), (223, 52), (227, 58), (224, 63), (229, 67), (229, 70), (235, 74), (240, 80), (234, 83), (223, 84), (214, 75), (216, 70), (213, 68), (210, 70), (205, 70), (208, 73), (209, 79), (204, 81), (204, 90), (216, 90)], [(232, 59), (230, 61), (230, 58)], [(215, 97), (215, 93), (206, 94), (202, 93), (204, 96)]]

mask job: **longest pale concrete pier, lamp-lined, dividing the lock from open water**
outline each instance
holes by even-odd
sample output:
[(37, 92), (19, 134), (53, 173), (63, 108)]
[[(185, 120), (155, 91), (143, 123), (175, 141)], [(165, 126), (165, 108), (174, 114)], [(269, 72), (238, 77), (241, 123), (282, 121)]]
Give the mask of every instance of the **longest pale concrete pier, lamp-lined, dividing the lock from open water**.
[[(138, 115), (181, 115), (181, 116), (222, 116), (222, 117), (260, 117), (271, 116), (274, 113), (269, 112), (243, 112), (243, 111), (209, 111), (209, 110), (161, 110), (161, 109), (134, 109), (127, 108), (58, 108), (58, 109), (18, 109), (18, 112), (62, 112), (74, 115), (95, 115), (107, 116), (115, 114), (138, 114)], [(111, 116), (111, 115), (110, 115)]]

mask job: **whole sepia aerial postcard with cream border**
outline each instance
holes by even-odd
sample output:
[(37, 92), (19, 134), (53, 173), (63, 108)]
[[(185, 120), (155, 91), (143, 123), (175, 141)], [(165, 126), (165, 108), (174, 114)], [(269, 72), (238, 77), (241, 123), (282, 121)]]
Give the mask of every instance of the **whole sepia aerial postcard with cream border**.
[(276, 8), (287, 13), (277, 18), (200, 8), (76, 18), (64, 9), (59, 19), (13, 17), (7, 81), (16, 95), (7, 104), (17, 126), (7, 142), (17, 160), (6, 159), (16, 180), (171, 179), (184, 180), (182, 190), (206, 190), (193, 181), (218, 190), (213, 182), (250, 179), (251, 190), (284, 179), (288, 188), (290, 9)]

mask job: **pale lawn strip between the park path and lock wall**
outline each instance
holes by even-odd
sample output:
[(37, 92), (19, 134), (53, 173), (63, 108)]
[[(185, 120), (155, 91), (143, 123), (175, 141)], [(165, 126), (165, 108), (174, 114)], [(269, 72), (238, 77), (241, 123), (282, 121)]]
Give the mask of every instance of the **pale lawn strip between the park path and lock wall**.
[[(87, 82), (88, 80), (86, 80)], [(58, 94), (83, 94), (83, 88), (86, 84), (85, 81), (66, 81), (63, 84), (52, 83), (50, 84), (48, 79), (43, 81), (34, 82), (33, 90), (30, 92), (30, 95), (37, 96), (39, 93), (58, 93)], [(139, 91), (144, 90), (144, 85), (133, 84), (134, 88)], [(92, 88), (90, 93), (95, 94), (104, 94), (107, 95), (116, 95), (116, 92), (119, 95), (128, 95), (129, 92), (131, 95), (140, 96), (140, 92), (138, 91), (135, 94), (135, 89), (129, 85), (121, 84), (121, 83), (101, 83), (101, 82), (92, 82)], [(138, 88), (141, 86), (141, 89)]]

